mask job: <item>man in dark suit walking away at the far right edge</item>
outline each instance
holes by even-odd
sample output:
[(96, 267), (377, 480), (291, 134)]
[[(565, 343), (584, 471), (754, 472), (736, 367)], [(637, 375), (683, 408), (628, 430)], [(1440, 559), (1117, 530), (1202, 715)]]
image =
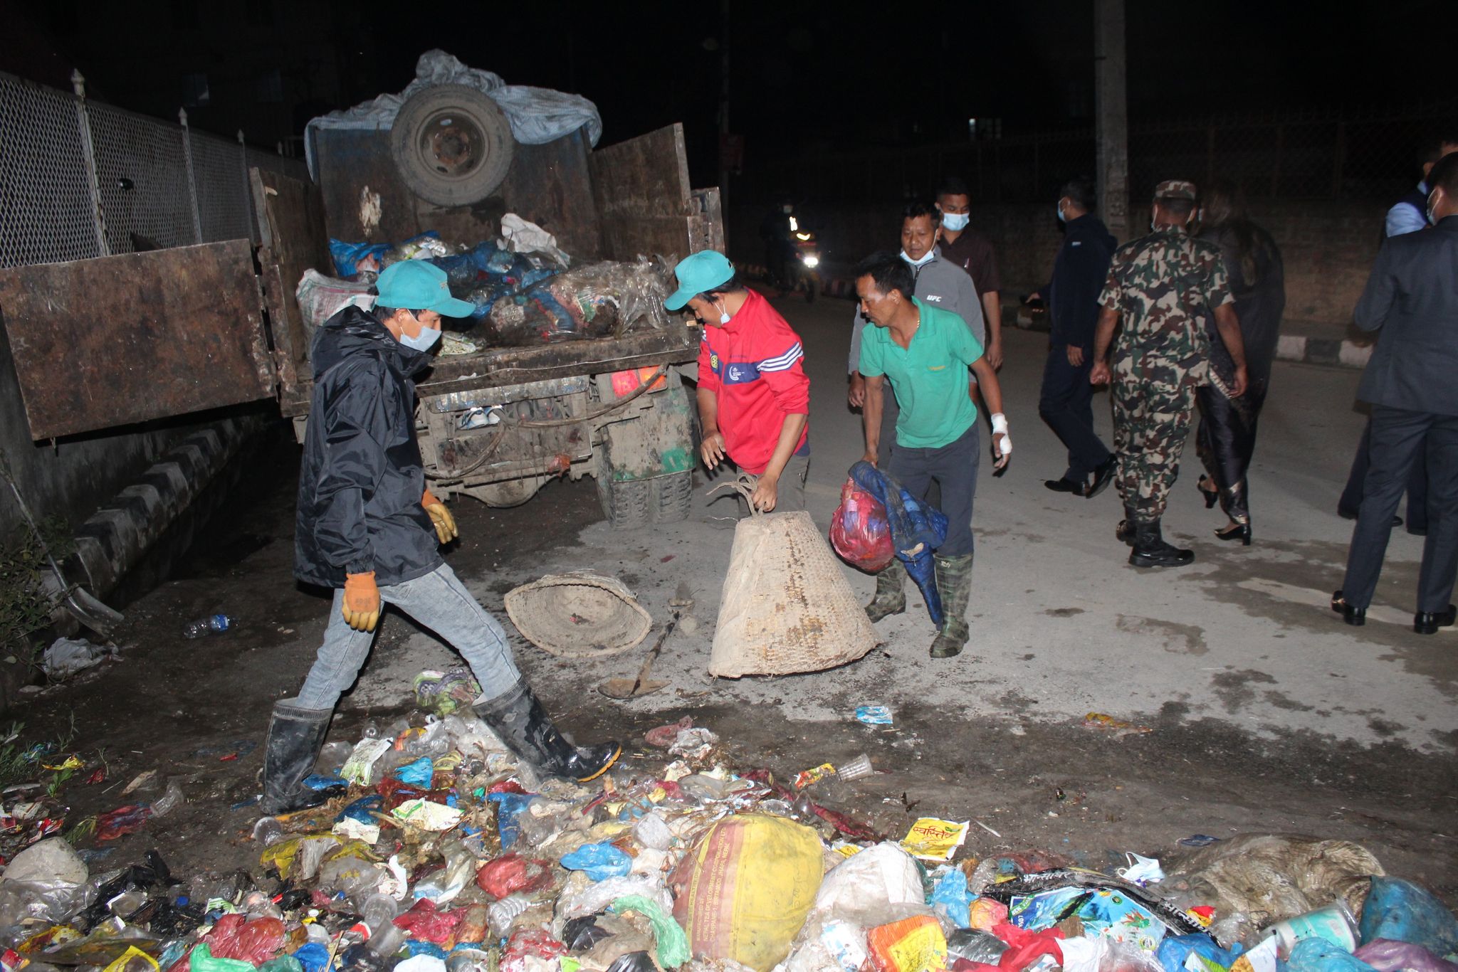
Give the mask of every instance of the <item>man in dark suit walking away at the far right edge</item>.
[[(1372, 466), (1341, 590), (1331, 609), (1363, 624), (1376, 590), (1392, 513), (1408, 469), (1427, 459), (1427, 541), (1417, 580), (1413, 630), (1433, 634), (1454, 624), (1449, 603), (1458, 576), (1458, 153), (1429, 173), (1426, 233), (1392, 236), (1378, 254), (1356, 322), (1378, 331), (1357, 398), (1372, 405)], [(1426, 446), (1424, 446), (1426, 436)]]

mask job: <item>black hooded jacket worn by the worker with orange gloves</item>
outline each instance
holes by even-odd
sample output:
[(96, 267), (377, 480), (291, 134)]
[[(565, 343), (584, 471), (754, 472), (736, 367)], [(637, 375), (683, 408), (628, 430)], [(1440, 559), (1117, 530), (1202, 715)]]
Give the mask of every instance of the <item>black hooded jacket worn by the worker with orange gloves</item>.
[(346, 307), (313, 338), (313, 401), (299, 469), (295, 576), (343, 587), (375, 571), (398, 584), (442, 564), (420, 506), (426, 474), (416, 442), (416, 383), (430, 356), (413, 351), (367, 310)]

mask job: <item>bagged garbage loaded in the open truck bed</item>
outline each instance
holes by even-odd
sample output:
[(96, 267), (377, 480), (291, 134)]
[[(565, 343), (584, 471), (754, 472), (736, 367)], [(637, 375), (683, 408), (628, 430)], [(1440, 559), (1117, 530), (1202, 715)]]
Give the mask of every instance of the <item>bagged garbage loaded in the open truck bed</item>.
[(474, 246), (446, 243), (430, 230), (402, 243), (331, 239), (330, 254), (335, 275), (308, 270), (295, 294), (311, 334), (348, 303), (370, 306), (367, 293), (381, 271), (402, 259), (446, 271), (451, 294), (475, 306), (469, 334), (486, 347), (623, 337), (669, 325), (666, 262), (640, 258), (569, 270), (572, 258), (555, 238), (515, 213), (502, 217), (500, 236)]

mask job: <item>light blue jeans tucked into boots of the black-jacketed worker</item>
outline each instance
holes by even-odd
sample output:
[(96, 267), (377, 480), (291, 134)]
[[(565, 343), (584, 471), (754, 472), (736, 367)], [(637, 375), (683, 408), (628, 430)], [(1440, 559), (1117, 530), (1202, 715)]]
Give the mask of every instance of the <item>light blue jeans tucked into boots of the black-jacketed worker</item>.
[[(481, 685), (483, 699), (496, 698), (521, 681), (500, 622), (477, 603), (446, 564), (414, 580), (381, 587), (379, 599), (382, 606), (395, 605), (459, 651)], [(324, 644), (295, 702), (299, 708), (332, 710), (344, 689), (354, 685), (375, 644), (379, 625), (375, 631), (356, 631), (340, 614), (343, 602), (344, 592), (335, 590)]]

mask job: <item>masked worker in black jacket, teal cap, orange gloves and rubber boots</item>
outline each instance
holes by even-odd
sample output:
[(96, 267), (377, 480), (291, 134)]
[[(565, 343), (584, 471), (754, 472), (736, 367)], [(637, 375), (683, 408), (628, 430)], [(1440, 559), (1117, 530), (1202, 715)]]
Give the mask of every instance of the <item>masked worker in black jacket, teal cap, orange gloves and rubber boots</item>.
[(472, 307), (445, 271), (407, 259), (379, 275), (373, 312), (344, 307), (313, 340), (313, 398), (299, 472), (295, 574), (334, 589), (334, 612), (296, 698), (274, 705), (264, 753), (265, 813), (319, 797), (303, 787), (340, 694), (369, 657), (385, 605), (455, 647), (481, 686), (475, 714), (538, 769), (592, 780), (617, 743), (577, 748), (561, 737), (528, 688), (506, 632), (440, 558), (455, 519), (426, 490), (416, 442), (416, 386), (440, 338), (440, 316)]

